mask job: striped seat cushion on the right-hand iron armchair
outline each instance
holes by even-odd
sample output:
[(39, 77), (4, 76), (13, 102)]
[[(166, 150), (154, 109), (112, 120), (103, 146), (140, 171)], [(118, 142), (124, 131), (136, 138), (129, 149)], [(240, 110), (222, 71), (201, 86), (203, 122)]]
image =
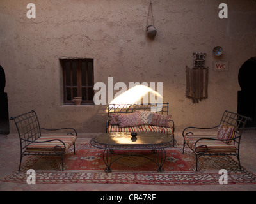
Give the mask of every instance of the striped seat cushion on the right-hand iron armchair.
[[(195, 143), (200, 138), (214, 138), (218, 139), (216, 135), (186, 135), (184, 136), (185, 142), (188, 144), (188, 146), (195, 150)], [(200, 145), (207, 145), (208, 150), (205, 153), (212, 152), (212, 153), (232, 153), (236, 152), (236, 147), (232, 145), (227, 145), (227, 143), (221, 142), (220, 140), (200, 140), (198, 143), (196, 143), (196, 150), (198, 152), (204, 152), (206, 150), (206, 147), (198, 147)]]

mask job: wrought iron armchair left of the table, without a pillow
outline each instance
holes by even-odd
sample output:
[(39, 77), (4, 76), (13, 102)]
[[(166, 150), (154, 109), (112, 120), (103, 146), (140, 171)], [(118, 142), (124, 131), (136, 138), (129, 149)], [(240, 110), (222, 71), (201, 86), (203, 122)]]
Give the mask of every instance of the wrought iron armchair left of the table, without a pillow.
[[(61, 156), (63, 171), (63, 159), (65, 152), (67, 152), (67, 150), (73, 145), (74, 154), (76, 154), (75, 141), (77, 138), (77, 132), (74, 128), (41, 128), (35, 110), (31, 110), (31, 112), (24, 113), (16, 117), (11, 117), (10, 120), (15, 122), (20, 138), (19, 171), (22, 158), (27, 155)], [(46, 131), (69, 129), (72, 133), (67, 133), (67, 135), (41, 135), (41, 129)]]

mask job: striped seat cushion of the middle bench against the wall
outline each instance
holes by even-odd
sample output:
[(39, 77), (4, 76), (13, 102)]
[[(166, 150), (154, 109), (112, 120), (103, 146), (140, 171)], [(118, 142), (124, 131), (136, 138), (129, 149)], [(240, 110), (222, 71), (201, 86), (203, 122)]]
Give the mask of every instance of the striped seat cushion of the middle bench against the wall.
[(142, 126), (133, 126), (133, 127), (125, 127), (120, 128), (119, 126), (108, 126), (108, 133), (113, 132), (157, 132), (157, 133), (166, 133), (173, 134), (172, 128), (169, 127), (160, 127), (160, 126), (150, 126), (150, 125), (142, 125)]

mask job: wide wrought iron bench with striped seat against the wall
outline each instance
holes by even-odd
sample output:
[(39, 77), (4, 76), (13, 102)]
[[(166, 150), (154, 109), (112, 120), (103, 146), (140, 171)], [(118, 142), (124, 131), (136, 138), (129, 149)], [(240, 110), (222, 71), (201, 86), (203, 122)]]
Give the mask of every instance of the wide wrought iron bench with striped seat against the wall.
[[(148, 103), (148, 104), (109, 104), (108, 105), (108, 120), (106, 122), (106, 133), (113, 132), (159, 132), (172, 135), (174, 139), (175, 125), (172, 119), (168, 118), (168, 126), (152, 125), (150, 122), (143, 120), (143, 125), (140, 126), (126, 126), (121, 127), (118, 124), (117, 117), (120, 114), (129, 114), (140, 112), (141, 117), (145, 116), (147, 120), (147, 114), (156, 113), (169, 117), (168, 115), (169, 103)], [(170, 116), (171, 117), (171, 116)], [(114, 121), (114, 122), (113, 122)]]

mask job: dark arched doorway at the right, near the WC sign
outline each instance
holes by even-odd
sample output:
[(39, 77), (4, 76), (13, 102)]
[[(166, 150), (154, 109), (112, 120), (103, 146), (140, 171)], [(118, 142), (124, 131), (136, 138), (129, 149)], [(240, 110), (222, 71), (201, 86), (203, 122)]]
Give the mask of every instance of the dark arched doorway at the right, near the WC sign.
[(239, 69), (237, 113), (252, 118), (246, 127), (256, 128), (256, 57), (248, 59)]

